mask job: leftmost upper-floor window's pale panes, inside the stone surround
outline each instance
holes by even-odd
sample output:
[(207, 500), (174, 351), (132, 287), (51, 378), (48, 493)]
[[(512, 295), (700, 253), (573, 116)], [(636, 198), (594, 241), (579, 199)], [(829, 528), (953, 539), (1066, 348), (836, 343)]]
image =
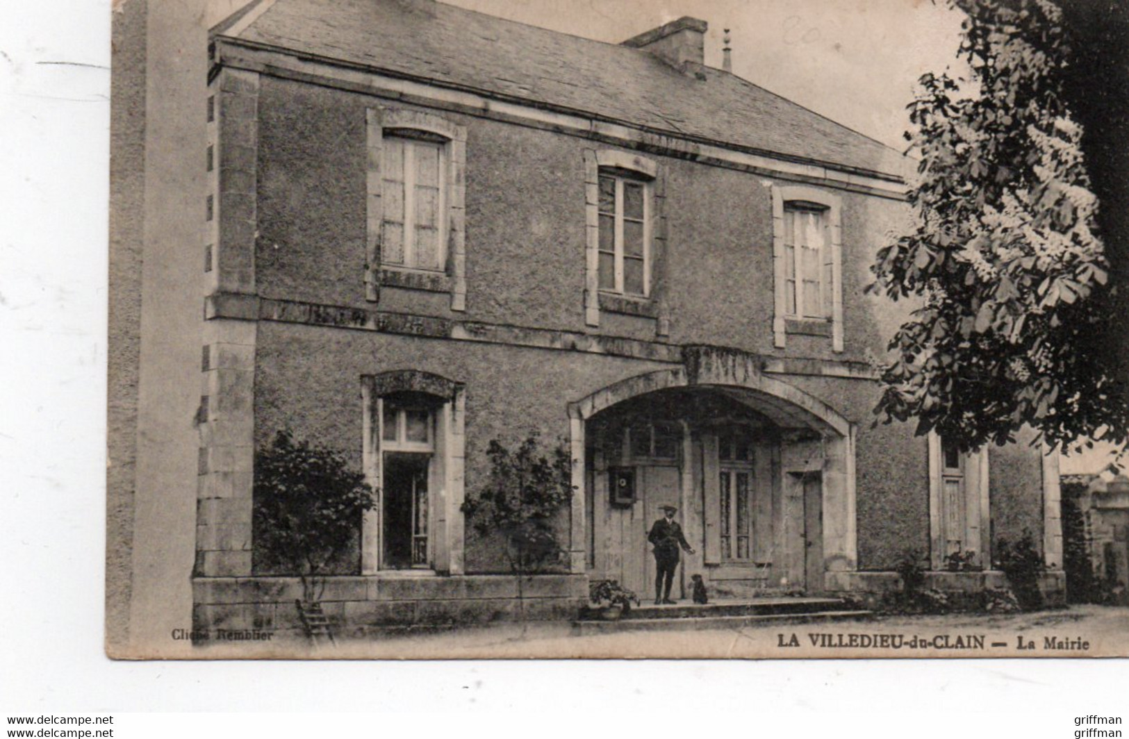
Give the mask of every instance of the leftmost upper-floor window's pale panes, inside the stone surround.
[(446, 142), (423, 132), (385, 135), (383, 151), (384, 264), (445, 271)]

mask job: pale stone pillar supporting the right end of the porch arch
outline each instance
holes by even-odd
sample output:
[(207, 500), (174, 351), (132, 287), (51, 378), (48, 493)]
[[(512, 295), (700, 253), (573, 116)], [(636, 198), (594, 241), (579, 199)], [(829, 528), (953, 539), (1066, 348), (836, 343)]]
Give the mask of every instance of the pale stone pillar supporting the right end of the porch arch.
[(847, 575), (858, 568), (858, 533), (855, 516), (856, 426), (846, 437), (824, 441), (823, 461), (823, 562), (824, 588), (843, 590)]

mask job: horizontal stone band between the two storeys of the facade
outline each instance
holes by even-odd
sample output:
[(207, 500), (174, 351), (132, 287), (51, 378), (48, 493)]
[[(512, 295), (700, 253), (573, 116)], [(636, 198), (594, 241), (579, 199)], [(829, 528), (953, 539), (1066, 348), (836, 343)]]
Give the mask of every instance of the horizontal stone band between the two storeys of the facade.
[[(204, 300), (207, 319), (268, 320), (353, 331), (370, 331), (400, 336), (525, 346), (550, 351), (606, 354), (681, 366), (684, 346), (665, 342), (640, 341), (550, 328), (531, 328), (475, 320), (390, 313), (349, 306), (329, 306), (297, 300), (260, 298), (252, 294), (217, 292)], [(736, 351), (736, 350), (735, 350)], [(743, 352), (744, 353), (744, 352)], [(865, 362), (802, 357), (760, 355), (761, 371), (769, 375), (804, 375), (876, 380), (877, 373)]]

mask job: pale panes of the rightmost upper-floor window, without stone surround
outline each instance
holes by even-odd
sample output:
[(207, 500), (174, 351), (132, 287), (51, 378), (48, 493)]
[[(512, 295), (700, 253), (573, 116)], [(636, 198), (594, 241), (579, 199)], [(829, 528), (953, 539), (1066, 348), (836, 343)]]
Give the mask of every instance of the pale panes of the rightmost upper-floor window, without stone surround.
[(785, 314), (796, 318), (829, 318), (830, 298), (824, 279), (823, 208), (787, 203), (785, 222)]

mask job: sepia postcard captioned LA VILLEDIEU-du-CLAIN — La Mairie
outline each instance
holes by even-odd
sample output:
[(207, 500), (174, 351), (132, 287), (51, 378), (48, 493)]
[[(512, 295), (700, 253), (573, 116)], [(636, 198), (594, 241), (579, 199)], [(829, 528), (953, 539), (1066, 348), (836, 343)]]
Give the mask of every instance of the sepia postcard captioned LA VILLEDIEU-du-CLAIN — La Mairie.
[(107, 653), (1129, 654), (1129, 478), (891, 401), (962, 7), (115, 0)]

